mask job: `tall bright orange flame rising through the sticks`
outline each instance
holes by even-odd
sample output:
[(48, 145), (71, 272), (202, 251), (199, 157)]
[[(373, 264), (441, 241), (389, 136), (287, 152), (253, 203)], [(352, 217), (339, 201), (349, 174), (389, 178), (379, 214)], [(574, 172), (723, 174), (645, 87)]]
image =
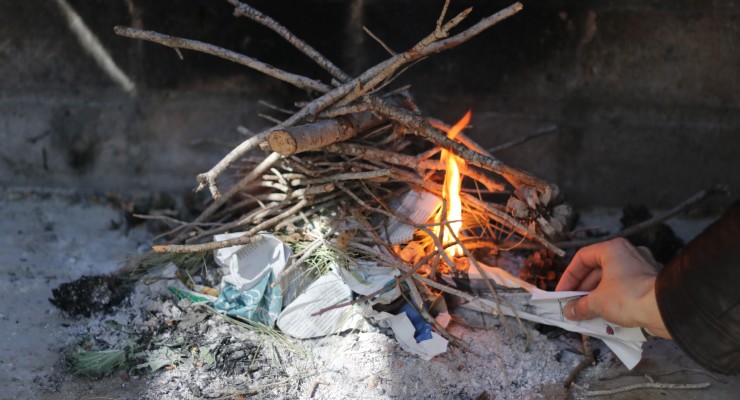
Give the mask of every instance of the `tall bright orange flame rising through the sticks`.
[[(463, 128), (468, 126), (468, 123), (470, 122), (470, 115), (471, 112), (470, 110), (468, 110), (468, 112), (460, 119), (460, 121), (457, 121), (457, 123), (449, 130), (440, 126), (437, 126), (437, 128), (446, 131), (447, 137), (454, 140), (457, 134), (460, 133)], [(450, 242), (455, 241), (455, 237), (459, 238), (458, 233), (460, 232), (460, 228), (462, 228), (462, 201), (460, 200), (462, 175), (460, 175), (460, 170), (464, 168), (465, 161), (445, 149), (442, 149), (440, 160), (443, 163), (447, 164), (445, 180), (442, 186), (442, 199), (447, 204), (447, 212), (446, 215), (443, 216), (441, 215), (442, 211), (440, 211), (440, 214), (437, 216), (437, 222), (454, 221), (450, 222), (449, 224), (450, 228), (452, 228), (451, 235), (448, 234), (448, 229), (446, 227), (444, 227), (442, 231), (442, 244), (446, 245)], [(439, 227), (435, 229), (435, 234), (439, 235), (439, 229)], [(445, 253), (447, 253), (447, 255), (450, 257), (459, 257), (463, 255), (463, 250), (459, 244), (456, 244), (454, 246), (447, 247), (445, 249)]]

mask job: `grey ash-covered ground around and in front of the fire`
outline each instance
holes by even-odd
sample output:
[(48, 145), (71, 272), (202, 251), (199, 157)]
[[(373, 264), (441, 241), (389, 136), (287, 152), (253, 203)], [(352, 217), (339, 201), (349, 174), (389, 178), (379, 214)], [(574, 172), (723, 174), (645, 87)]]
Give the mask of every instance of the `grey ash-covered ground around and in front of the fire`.
[[(117, 373), (92, 380), (63, 372), (61, 354), (81, 337), (116, 343), (126, 332), (163, 328), (169, 321), (184, 326), (202, 313), (177, 302), (162, 285), (141, 286), (111, 316), (70, 319), (52, 306), (51, 289), (87, 274), (119, 268), (125, 257), (148, 245), (147, 234), (134, 229), (127, 235), (113, 229), (118, 211), (68, 193), (0, 193), (0, 398), (7, 399), (195, 399), (219, 396), (248, 398), (394, 399), (394, 398), (565, 398), (560, 388), (580, 361), (569, 349), (578, 340), (548, 339), (530, 328), (533, 344), (523, 352), (521, 338), (507, 339), (498, 322), (478, 314), (461, 314), (451, 331), (474, 354), (451, 349), (432, 361), (401, 350), (382, 332), (357, 332), (292, 346), (207, 317), (193, 326), (188, 348), (221, 351), (232, 360), (229, 368), (209, 367), (186, 359), (176, 368), (157, 373)], [(618, 214), (592, 210), (587, 225), (613, 226)], [(707, 220), (680, 220), (674, 228), (690, 237)], [(112, 328), (121, 323), (122, 328)], [(192, 330), (190, 331), (192, 333)], [(122, 336), (123, 335), (123, 336)], [(166, 336), (166, 335), (165, 335)], [(174, 340), (172, 337), (162, 339)], [(218, 347), (218, 344), (222, 344)], [(625, 368), (599, 346), (599, 363), (579, 378), (581, 386), (604, 389), (644, 382), (621, 376)], [(229, 349), (228, 351), (223, 349)], [(202, 354), (202, 353), (201, 353)], [(740, 379), (717, 381), (697, 373), (657, 376), (678, 368), (701, 369), (667, 341), (645, 345), (636, 372), (650, 373), (660, 382), (710, 382), (708, 389), (666, 392), (639, 391), (614, 396), (637, 399), (735, 399)], [(487, 393), (489, 397), (479, 397)], [(578, 392), (573, 396), (580, 397)]]

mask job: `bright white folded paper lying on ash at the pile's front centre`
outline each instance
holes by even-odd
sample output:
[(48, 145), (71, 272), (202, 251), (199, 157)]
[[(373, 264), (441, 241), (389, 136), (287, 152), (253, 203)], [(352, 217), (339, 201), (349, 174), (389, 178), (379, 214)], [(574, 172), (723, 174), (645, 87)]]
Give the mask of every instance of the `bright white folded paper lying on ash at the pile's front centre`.
[(355, 329), (364, 325), (364, 318), (353, 307), (342, 307), (321, 315), (312, 315), (335, 304), (352, 299), (352, 291), (339, 274), (332, 269), (319, 277), (285, 307), (277, 320), (277, 326), (286, 334), (309, 339)]

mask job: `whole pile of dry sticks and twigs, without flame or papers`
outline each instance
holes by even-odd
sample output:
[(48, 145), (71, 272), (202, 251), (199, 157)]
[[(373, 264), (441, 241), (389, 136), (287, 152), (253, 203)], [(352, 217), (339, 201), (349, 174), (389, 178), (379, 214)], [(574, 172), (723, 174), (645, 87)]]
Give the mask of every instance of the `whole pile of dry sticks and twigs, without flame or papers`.
[[(459, 33), (452, 34), (470, 14), (466, 9), (446, 20), (445, 3), (434, 30), (415, 46), (396, 53), (357, 77), (351, 77), (278, 22), (238, 0), (227, 0), (234, 14), (262, 24), (283, 37), (328, 72), (328, 82), (279, 70), (259, 60), (208, 43), (129, 27), (116, 27), (119, 35), (171, 47), (194, 50), (225, 58), (256, 69), (273, 78), (305, 89), (316, 97), (299, 103), (297, 111), (275, 119), (275, 126), (253, 134), (236, 146), (209, 171), (197, 177), (198, 188), (208, 188), (213, 201), (192, 222), (178, 222), (164, 234), (159, 253), (200, 253), (260, 240), (260, 232), (271, 231), (286, 238), (303, 235), (310, 244), (295, 254), (289, 269), (298, 267), (321, 245), (346, 250), (356, 257), (371, 258), (379, 265), (401, 272), (396, 279), (429, 323), (451, 342), (467, 347), (449, 335), (423, 307), (424, 299), (447, 292), (467, 296), (435, 281), (437, 267), (455, 270), (456, 263), (444, 249), (460, 245), (464, 255), (485, 276), (471, 251), (483, 248), (499, 252), (519, 245), (546, 247), (564, 252), (543, 235), (551, 200), (557, 187), (532, 174), (504, 164), (461, 133), (455, 140), (445, 134), (443, 122), (424, 116), (408, 88), (391, 90), (394, 79), (411, 64), (454, 48), (522, 9), (515, 3)], [(376, 40), (380, 41), (375, 35)], [(464, 160), (463, 231), (442, 242), (445, 218), (415, 223), (394, 211), (389, 203), (409, 190), (442, 196), (445, 164), (437, 154), (446, 149)], [(264, 154), (248, 169), (238, 169), (254, 153)], [(238, 170), (240, 178), (222, 191), (218, 178), (227, 170)], [(447, 204), (442, 201), (440, 215)], [(516, 212), (512, 211), (514, 208)], [(325, 223), (317, 224), (317, 221)], [(413, 226), (428, 246), (417, 257), (402, 257), (386, 239), (391, 221)], [(213, 235), (246, 231), (235, 239), (213, 241)], [(419, 242), (424, 242), (420, 240)], [(305, 242), (304, 242), (305, 243)], [(430, 273), (417, 273), (422, 266)], [(432, 279), (430, 279), (432, 278)], [(500, 304), (492, 282), (490, 292)], [(372, 298), (368, 295), (355, 301)], [(341, 305), (337, 305), (341, 306)], [(491, 310), (502, 315), (501, 309)], [(507, 325), (508, 327), (508, 325)], [(508, 328), (507, 328), (508, 329)]]

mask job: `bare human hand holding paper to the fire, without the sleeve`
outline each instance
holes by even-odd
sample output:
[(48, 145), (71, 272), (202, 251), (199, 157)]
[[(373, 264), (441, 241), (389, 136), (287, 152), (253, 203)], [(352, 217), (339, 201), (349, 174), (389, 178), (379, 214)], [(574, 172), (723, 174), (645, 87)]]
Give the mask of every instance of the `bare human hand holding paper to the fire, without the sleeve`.
[(670, 339), (655, 299), (657, 275), (658, 264), (647, 248), (617, 238), (578, 250), (555, 290), (590, 291), (563, 308), (570, 320), (602, 317)]

